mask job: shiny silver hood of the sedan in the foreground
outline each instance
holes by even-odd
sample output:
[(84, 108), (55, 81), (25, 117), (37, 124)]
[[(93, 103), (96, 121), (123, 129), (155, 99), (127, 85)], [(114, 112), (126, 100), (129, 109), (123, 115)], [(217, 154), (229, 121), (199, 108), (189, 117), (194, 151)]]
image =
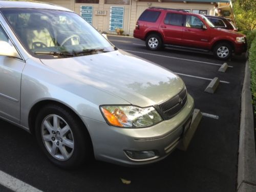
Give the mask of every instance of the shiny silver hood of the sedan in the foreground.
[[(176, 74), (121, 50), (79, 57), (41, 59), (41, 62), (65, 74), (71, 81), (93, 86), (141, 107), (168, 100), (184, 88), (184, 82)], [(114, 103), (110, 101), (105, 104)]]

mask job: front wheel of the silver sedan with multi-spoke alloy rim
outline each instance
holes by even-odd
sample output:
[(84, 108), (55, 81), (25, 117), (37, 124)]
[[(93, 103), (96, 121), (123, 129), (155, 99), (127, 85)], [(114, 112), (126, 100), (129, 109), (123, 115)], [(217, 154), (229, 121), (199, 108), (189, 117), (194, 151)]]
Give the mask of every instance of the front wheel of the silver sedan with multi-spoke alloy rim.
[(42, 151), (61, 168), (76, 168), (92, 156), (86, 127), (70, 110), (46, 105), (36, 117), (35, 135)]

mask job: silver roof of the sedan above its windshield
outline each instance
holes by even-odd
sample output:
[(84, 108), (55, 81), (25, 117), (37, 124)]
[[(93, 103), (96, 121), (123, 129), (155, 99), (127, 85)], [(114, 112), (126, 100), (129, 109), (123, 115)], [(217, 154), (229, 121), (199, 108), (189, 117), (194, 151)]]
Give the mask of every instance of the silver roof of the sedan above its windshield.
[(36, 1), (0, 1), (0, 8), (34, 8), (71, 11), (61, 6)]

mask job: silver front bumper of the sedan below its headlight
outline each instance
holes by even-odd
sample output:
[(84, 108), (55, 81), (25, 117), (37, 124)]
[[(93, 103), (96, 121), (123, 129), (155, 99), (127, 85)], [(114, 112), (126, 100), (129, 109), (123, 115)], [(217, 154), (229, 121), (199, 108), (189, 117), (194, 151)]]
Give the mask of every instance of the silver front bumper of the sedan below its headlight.
[[(193, 114), (194, 99), (188, 95), (187, 103), (173, 118), (142, 129), (123, 129), (105, 122), (81, 117), (90, 133), (94, 155), (97, 160), (122, 165), (143, 165), (167, 157), (184, 134), (184, 124)], [(156, 156), (148, 159), (132, 159), (128, 151), (154, 151)]]

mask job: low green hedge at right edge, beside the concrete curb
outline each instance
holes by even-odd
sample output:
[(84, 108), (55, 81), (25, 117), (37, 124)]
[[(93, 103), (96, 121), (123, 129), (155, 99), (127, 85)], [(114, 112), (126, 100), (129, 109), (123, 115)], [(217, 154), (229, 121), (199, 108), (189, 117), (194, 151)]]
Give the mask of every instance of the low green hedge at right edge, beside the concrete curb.
[(256, 37), (251, 42), (249, 50), (249, 63), (251, 71), (251, 92), (254, 105), (254, 113), (256, 113)]

